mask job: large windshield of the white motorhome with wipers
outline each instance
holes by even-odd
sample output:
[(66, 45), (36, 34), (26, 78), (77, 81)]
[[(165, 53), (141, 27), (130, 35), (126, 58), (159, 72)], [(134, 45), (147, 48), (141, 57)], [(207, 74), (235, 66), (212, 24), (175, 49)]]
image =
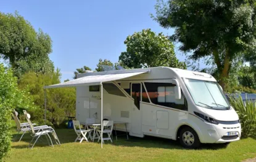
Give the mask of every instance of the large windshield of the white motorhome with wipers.
[(217, 82), (196, 79), (184, 79), (184, 82), (197, 106), (218, 110), (229, 109), (229, 104)]

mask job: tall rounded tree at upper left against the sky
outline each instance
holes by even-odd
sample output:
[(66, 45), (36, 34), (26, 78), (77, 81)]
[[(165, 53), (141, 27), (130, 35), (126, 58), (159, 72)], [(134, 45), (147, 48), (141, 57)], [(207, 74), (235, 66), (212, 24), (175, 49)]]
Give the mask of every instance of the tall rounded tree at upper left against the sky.
[(0, 55), (9, 61), (17, 77), (29, 71), (54, 71), (48, 56), (51, 52), (52, 41), (48, 34), (41, 29), (36, 32), (18, 12), (14, 15), (0, 12)]

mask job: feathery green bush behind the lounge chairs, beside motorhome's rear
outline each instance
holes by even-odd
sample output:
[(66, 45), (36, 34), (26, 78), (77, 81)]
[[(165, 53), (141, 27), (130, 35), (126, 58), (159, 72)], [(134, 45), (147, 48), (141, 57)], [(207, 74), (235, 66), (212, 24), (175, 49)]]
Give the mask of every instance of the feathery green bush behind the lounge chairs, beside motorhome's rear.
[[(38, 107), (36, 110), (28, 110), (31, 120), (44, 124), (44, 86), (60, 83), (60, 71), (57, 69), (52, 74), (35, 74), (30, 72), (22, 75), (19, 81), (20, 89), (27, 88)], [(60, 127), (64, 125), (67, 116), (75, 115), (75, 88), (54, 88), (47, 90), (47, 125)], [(62, 125), (63, 124), (63, 125)]]

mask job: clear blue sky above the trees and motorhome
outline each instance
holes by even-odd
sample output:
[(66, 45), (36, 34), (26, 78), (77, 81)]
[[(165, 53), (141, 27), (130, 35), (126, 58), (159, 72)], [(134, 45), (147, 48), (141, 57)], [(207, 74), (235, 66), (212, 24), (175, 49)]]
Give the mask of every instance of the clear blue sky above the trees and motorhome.
[[(96, 1), (1, 1), (0, 12), (15, 10), (38, 31), (43, 29), (52, 39), (49, 55), (60, 68), (62, 82), (72, 79), (75, 69), (88, 66), (95, 69), (99, 59), (116, 63), (128, 35), (151, 28), (169, 36), (173, 29), (163, 29), (152, 20), (156, 0), (96, 0)], [(177, 50), (176, 56), (186, 56)]]

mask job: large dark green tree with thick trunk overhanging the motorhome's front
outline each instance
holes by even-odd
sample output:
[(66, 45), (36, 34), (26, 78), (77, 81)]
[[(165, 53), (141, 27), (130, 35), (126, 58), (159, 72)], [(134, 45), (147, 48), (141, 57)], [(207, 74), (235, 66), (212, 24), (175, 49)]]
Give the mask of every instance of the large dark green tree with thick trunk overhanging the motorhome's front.
[(156, 17), (163, 28), (175, 28), (170, 38), (181, 42), (189, 58), (211, 56), (225, 89), (232, 61), (241, 53), (255, 55), (255, 1), (158, 1)]

